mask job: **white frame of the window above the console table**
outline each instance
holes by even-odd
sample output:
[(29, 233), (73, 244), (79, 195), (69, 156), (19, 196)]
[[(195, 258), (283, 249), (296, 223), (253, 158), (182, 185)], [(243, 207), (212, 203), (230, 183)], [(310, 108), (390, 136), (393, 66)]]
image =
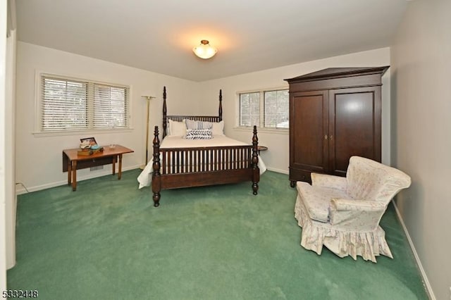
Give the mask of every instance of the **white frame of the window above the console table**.
[[(59, 80), (70, 80), (75, 82), (87, 82), (88, 85), (92, 85), (92, 89), (94, 88), (94, 85), (104, 85), (109, 87), (117, 87), (117, 88), (124, 88), (126, 89), (126, 108), (125, 108), (125, 118), (126, 122), (128, 123), (127, 127), (118, 127), (118, 128), (96, 128), (93, 127), (94, 124), (94, 93), (92, 95), (89, 95), (89, 87), (88, 89), (88, 96), (87, 96), (87, 124), (88, 127), (85, 129), (75, 129), (75, 130), (42, 130), (42, 95), (43, 95), (43, 85), (42, 80), (43, 77), (52, 77)], [(87, 79), (83, 77), (75, 77), (70, 75), (61, 75), (58, 73), (48, 73), (44, 71), (36, 71), (35, 72), (35, 127), (34, 131), (32, 132), (33, 135), (36, 136), (64, 136), (64, 135), (78, 135), (78, 134), (85, 134), (87, 132), (99, 132), (99, 133), (107, 133), (107, 132), (130, 132), (132, 127), (132, 88), (130, 85), (124, 85), (124, 84), (118, 84), (118, 83), (112, 83), (112, 82), (104, 82), (100, 80), (92, 80)]]

